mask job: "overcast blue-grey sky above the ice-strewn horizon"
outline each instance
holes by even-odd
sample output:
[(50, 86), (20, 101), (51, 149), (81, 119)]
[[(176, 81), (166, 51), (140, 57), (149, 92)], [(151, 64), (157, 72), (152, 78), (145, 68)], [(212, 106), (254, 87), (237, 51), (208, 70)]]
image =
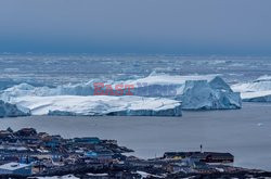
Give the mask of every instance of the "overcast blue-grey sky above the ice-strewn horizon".
[(1, 0), (0, 52), (271, 55), (270, 0)]

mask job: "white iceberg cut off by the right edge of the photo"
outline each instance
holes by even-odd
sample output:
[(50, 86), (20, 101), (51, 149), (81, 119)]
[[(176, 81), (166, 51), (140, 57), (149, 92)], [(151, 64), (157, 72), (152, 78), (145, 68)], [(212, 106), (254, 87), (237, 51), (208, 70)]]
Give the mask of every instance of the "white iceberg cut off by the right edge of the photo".
[(232, 86), (234, 91), (241, 92), (246, 102), (271, 102), (271, 76), (261, 76), (254, 81)]

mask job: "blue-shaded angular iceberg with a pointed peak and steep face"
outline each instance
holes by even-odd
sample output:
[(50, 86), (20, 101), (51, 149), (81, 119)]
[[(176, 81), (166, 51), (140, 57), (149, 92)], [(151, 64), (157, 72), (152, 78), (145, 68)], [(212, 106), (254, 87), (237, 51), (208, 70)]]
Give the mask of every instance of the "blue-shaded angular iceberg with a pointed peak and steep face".
[(212, 80), (186, 80), (183, 93), (178, 97), (183, 110), (233, 110), (242, 107), (238, 92), (219, 76)]

